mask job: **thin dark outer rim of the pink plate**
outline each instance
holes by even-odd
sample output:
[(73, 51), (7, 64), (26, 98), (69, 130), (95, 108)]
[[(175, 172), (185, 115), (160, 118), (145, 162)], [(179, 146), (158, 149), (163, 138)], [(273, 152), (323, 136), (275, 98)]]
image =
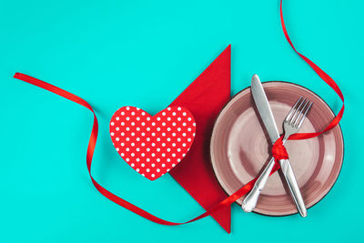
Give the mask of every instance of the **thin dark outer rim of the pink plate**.
[[(315, 96), (319, 97), (319, 99), (321, 101), (323, 101), (323, 104), (325, 106), (328, 106), (329, 107), (329, 111), (331, 112), (331, 114), (335, 117), (336, 114), (334, 113), (334, 111), (332, 110), (332, 108), (329, 106), (329, 104), (321, 97), (319, 96), (316, 92), (308, 89), (307, 87), (305, 86), (301, 86), (301, 85), (298, 85), (298, 84), (295, 84), (295, 83), (292, 83), (292, 82), (288, 82), (288, 81), (276, 81), (276, 80), (271, 80), (271, 81), (265, 81), (265, 82), (262, 82), (262, 84), (266, 84), (266, 83), (283, 83), (283, 84), (289, 84), (289, 85), (293, 85), (293, 86), (298, 86), (298, 87), (301, 87), (301, 88), (304, 88), (306, 90), (308, 90), (309, 92), (312, 92)], [(244, 92), (245, 90), (247, 90), (248, 88), (250, 88), (251, 86), (247, 86), (243, 89), (241, 89), (237, 94), (235, 94), (234, 96), (231, 96), (230, 99), (227, 101), (227, 103), (219, 110), (216, 118), (215, 118), (215, 121), (214, 121), (214, 124), (213, 124), (213, 128), (212, 128), (212, 132), (211, 132), (211, 136), (209, 137), (210, 138), (210, 142), (209, 142), (209, 157), (210, 157), (210, 163), (211, 163), (211, 166), (213, 168), (213, 171), (214, 171), (214, 177), (216, 178), (217, 180), (217, 183), (218, 185), (221, 187), (221, 189), (224, 191), (224, 193), (227, 195), (227, 197), (229, 197), (230, 195), (228, 195), (226, 189), (221, 185), (221, 182), (220, 180), (218, 179), (217, 177), (217, 171), (216, 171), (216, 167), (214, 166), (214, 163), (212, 163), (212, 137), (214, 135), (214, 131), (216, 129), (216, 124), (217, 124), (217, 120), (218, 118), (221, 116), (221, 113), (223, 112), (223, 110), (227, 107), (227, 105), (236, 97), (238, 96), (240, 93)], [(314, 203), (313, 205), (311, 205), (310, 207), (308, 208), (312, 208), (314, 206), (316, 206), (324, 197), (328, 196), (329, 192), (332, 190), (332, 188), (336, 185), (337, 181), (338, 181), (338, 178), (339, 178), (339, 175), (341, 173), (341, 170), (342, 170), (342, 167), (343, 167), (343, 164), (344, 164), (344, 156), (345, 156), (345, 142), (344, 142), (344, 134), (342, 132), (342, 129), (341, 129), (341, 126), (340, 126), (340, 123), (337, 125), (339, 126), (339, 131), (340, 131), (340, 137), (341, 137), (341, 140), (342, 140), (342, 158), (341, 158), (341, 165), (339, 167), (339, 173), (338, 173), (338, 177), (335, 178), (335, 181), (332, 183), (332, 186), (329, 187), (329, 190), (328, 192), (323, 195), (323, 197), (321, 197), (319, 199), (319, 201), (317, 201), (316, 203)], [(238, 204), (237, 201), (234, 202), (234, 204), (238, 205), (240, 207), (240, 205)], [(307, 209), (308, 209), (307, 208)], [(266, 213), (262, 213), (262, 212), (257, 212), (255, 209), (252, 211), (253, 213), (255, 214), (258, 214), (258, 215), (262, 215), (262, 216), (268, 216), (268, 217), (286, 217), (286, 216), (291, 216), (291, 215), (296, 215), (298, 214), (298, 212), (296, 213), (287, 213), (287, 214), (282, 214), (282, 215), (272, 215), (272, 214), (266, 214)]]

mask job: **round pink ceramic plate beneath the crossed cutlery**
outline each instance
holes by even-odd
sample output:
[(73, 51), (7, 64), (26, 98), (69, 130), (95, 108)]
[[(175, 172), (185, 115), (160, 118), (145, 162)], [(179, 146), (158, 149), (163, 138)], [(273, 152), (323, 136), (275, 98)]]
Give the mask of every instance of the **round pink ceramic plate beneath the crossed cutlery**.
[[(302, 86), (286, 82), (263, 84), (269, 104), (282, 132), (283, 119), (299, 96), (313, 101), (300, 132), (321, 131), (335, 116), (319, 96)], [(343, 138), (339, 126), (319, 137), (288, 141), (288, 154), (307, 208), (319, 202), (339, 177), (343, 159)], [(211, 137), (212, 166), (221, 187), (231, 195), (257, 177), (270, 158), (271, 144), (258, 116), (250, 87), (234, 96), (224, 107)], [(255, 212), (285, 216), (298, 210), (278, 171), (268, 179)], [(237, 202), (241, 205), (243, 197)]]

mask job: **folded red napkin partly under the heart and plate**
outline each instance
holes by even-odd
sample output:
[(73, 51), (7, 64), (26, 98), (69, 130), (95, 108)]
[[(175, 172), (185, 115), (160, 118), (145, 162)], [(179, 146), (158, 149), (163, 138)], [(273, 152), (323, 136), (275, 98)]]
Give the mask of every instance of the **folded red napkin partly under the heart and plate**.
[[(209, 141), (219, 111), (230, 99), (231, 46), (179, 95), (170, 106), (184, 106), (197, 123), (195, 141), (187, 156), (169, 173), (206, 210), (227, 197), (211, 166)], [(228, 233), (230, 206), (211, 215)]]

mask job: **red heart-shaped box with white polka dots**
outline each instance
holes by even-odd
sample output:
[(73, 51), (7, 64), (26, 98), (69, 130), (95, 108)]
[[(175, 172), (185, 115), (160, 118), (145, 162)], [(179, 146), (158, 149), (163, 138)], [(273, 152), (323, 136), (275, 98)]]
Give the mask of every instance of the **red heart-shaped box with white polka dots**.
[(167, 107), (156, 116), (124, 106), (110, 121), (116, 151), (130, 167), (150, 180), (163, 176), (186, 156), (195, 133), (194, 117), (181, 106)]

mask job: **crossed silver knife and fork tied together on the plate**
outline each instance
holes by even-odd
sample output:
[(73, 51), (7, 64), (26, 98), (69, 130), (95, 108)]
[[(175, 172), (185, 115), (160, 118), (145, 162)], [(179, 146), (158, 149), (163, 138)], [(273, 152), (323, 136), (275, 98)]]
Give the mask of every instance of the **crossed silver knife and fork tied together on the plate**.
[[(272, 144), (274, 144), (276, 140), (280, 137), (278, 133), (278, 127), (274, 120), (274, 116), (270, 109), (263, 86), (261, 85), (259, 77), (257, 75), (253, 76), (252, 78), (251, 92), (254, 102), (256, 103), (256, 106), (258, 108), (258, 113), (261, 116), (263, 124), (268, 131), (268, 136), (270, 137)], [(288, 116), (283, 122), (283, 127), (285, 130), (285, 137), (282, 139), (283, 144), (287, 141), (289, 136), (298, 132), (311, 106), (312, 102), (308, 101), (306, 98), (300, 97), (296, 104), (289, 111)], [(256, 207), (259, 194), (268, 181), (268, 177), (273, 169), (274, 163), (275, 161), (272, 157), (267, 167), (265, 167), (261, 175), (258, 177), (258, 180), (256, 181), (248, 196), (245, 197), (241, 206), (244, 211), (251, 212)], [(293, 173), (292, 167), (290, 166), (289, 160), (281, 159), (279, 161), (279, 165), (288, 183), (289, 191), (298, 208), (299, 214), (302, 217), (306, 217), (307, 210), (305, 207), (305, 203), (299, 191), (298, 183)]]

